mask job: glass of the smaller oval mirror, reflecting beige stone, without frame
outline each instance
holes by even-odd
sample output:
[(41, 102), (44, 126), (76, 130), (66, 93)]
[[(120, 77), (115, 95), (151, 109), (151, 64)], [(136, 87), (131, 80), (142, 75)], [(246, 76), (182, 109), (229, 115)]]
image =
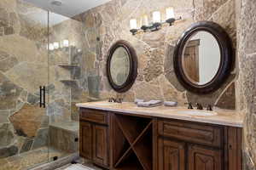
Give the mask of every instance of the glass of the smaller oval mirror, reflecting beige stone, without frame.
[(129, 72), (129, 54), (123, 47), (116, 48), (110, 61), (110, 75), (113, 82), (118, 86), (122, 86), (126, 82)]

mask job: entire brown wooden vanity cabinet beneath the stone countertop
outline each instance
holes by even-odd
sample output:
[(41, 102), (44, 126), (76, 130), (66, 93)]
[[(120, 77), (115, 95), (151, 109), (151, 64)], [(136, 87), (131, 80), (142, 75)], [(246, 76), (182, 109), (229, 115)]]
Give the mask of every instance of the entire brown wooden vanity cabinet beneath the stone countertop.
[(241, 128), (80, 109), (80, 156), (110, 170), (241, 170)]

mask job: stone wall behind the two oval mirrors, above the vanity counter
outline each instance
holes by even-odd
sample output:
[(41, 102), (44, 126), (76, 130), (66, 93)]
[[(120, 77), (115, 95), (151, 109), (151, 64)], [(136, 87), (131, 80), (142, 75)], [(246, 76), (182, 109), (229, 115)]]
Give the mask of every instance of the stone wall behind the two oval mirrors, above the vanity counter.
[[(183, 20), (160, 31), (131, 35), (129, 21), (132, 18), (139, 20), (143, 14), (151, 16), (154, 10), (164, 11), (167, 7), (173, 7)], [(190, 101), (235, 109), (236, 71), (215, 93), (197, 95), (177, 82), (172, 65), (178, 37), (196, 21), (212, 20), (223, 26), (236, 48), (235, 10), (235, 0), (113, 0), (74, 17), (84, 23), (84, 41), (88, 44), (83, 49), (86, 56), (84, 65), (87, 65), (88, 90), (94, 92), (89, 93), (90, 99), (107, 99), (116, 94), (108, 84), (105, 65), (108, 49), (114, 42), (124, 39), (131, 42), (138, 57), (137, 81), (131, 90), (123, 94), (125, 100), (166, 99), (177, 100), (180, 105)]]

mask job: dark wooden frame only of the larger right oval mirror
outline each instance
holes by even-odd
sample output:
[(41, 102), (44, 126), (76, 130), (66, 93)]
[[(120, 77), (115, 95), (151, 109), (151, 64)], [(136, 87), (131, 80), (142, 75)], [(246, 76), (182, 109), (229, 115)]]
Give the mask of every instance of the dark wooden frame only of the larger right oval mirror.
[[(190, 37), (195, 35), (198, 31), (207, 31), (211, 33), (212, 36), (216, 38), (220, 48), (221, 59), (218, 72), (210, 82), (207, 82), (204, 85), (197, 85), (190, 82), (188, 77), (185, 76), (182, 67), (183, 48)], [(195, 94), (209, 94), (218, 90), (218, 88), (220, 88), (230, 76), (230, 71), (233, 69), (233, 65), (235, 63), (234, 50), (229, 35), (221, 26), (218, 26), (218, 24), (212, 21), (201, 21), (195, 23), (190, 26), (189, 29), (184, 31), (182, 37), (180, 37), (177, 42), (173, 57), (173, 66), (177, 80), (184, 88)]]

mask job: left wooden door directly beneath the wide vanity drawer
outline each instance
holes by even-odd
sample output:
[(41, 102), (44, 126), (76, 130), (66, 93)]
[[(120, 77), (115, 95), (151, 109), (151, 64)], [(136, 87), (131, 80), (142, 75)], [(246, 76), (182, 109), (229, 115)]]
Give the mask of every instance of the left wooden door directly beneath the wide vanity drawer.
[(185, 170), (185, 144), (168, 139), (158, 140), (159, 169)]

